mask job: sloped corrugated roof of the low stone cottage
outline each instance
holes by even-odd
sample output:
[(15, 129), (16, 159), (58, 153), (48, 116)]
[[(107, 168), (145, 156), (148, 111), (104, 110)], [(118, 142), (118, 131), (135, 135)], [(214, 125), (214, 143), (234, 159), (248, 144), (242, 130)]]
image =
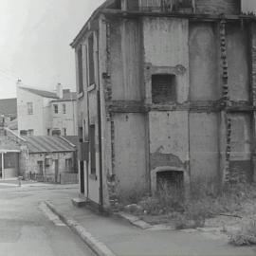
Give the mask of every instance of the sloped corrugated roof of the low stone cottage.
[(30, 136), (24, 137), (27, 140), (29, 153), (58, 153), (76, 151), (62, 137), (50, 136)]

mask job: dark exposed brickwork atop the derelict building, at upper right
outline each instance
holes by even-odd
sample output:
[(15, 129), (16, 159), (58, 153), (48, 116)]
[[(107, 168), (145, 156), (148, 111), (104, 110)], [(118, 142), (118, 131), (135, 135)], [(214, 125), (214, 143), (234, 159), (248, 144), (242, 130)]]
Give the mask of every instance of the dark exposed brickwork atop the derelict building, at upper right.
[(241, 0), (195, 0), (197, 13), (239, 14)]

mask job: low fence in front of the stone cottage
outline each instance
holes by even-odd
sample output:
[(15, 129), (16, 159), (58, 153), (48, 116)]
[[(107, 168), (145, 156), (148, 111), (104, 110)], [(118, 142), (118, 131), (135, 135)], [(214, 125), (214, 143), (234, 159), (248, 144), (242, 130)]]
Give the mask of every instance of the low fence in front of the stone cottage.
[(25, 174), (26, 180), (33, 180), (37, 182), (53, 183), (53, 184), (77, 184), (79, 183), (78, 174), (63, 173), (55, 174)]

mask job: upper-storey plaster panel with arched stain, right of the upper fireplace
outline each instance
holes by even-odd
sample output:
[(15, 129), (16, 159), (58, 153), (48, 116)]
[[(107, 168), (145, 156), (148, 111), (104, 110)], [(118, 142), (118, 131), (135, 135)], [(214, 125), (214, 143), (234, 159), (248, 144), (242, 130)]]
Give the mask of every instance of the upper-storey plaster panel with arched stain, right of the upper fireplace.
[(220, 98), (218, 35), (214, 23), (190, 23), (191, 101)]

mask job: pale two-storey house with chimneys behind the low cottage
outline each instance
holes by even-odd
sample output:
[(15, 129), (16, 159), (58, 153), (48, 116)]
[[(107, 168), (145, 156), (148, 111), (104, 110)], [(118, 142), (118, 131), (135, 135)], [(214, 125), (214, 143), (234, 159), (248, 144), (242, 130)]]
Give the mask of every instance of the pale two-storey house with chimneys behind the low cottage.
[(18, 133), (21, 136), (76, 136), (76, 93), (57, 84), (56, 92), (17, 82)]

